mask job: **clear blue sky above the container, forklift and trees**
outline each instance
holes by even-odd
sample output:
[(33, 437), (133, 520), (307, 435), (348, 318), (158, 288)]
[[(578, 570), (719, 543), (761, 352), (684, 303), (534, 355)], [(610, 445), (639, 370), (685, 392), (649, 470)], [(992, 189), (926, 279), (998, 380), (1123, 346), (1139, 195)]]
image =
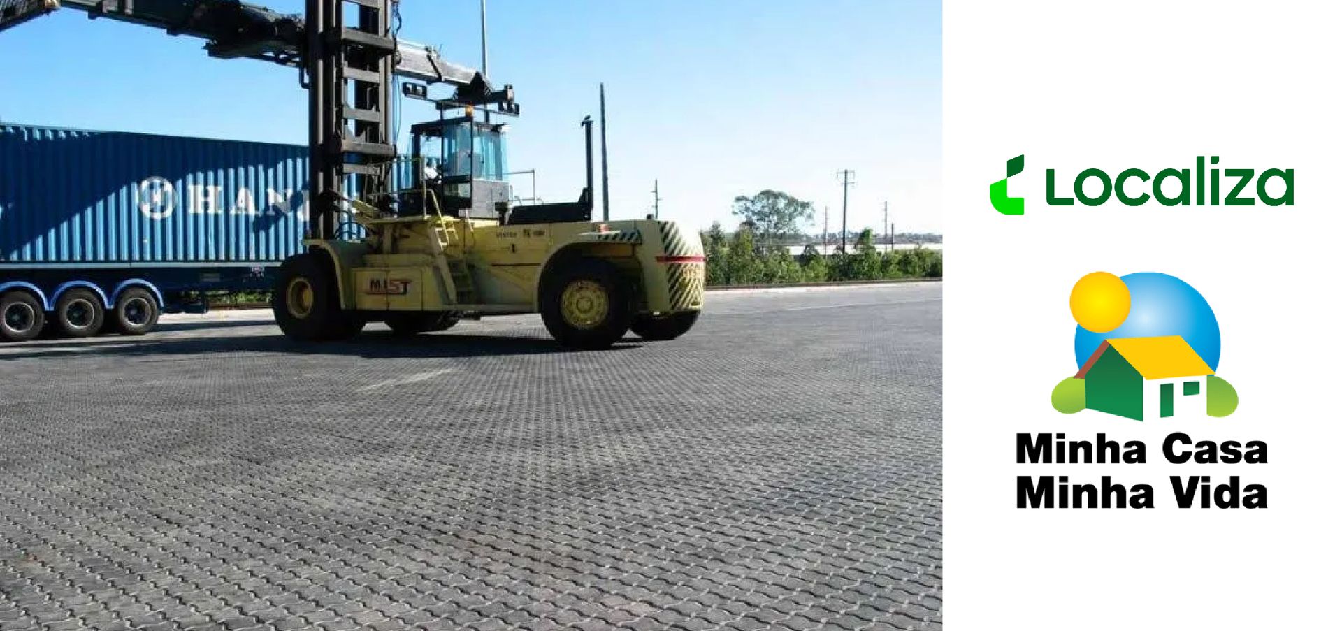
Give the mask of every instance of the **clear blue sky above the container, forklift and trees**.
[[(301, 12), (302, 0), (268, 7)], [(407, 0), (401, 38), (479, 64), (478, 0)], [(491, 0), (490, 75), (522, 117), (510, 166), (546, 201), (582, 187), (578, 121), (607, 85), (613, 217), (733, 226), (765, 188), (828, 205), (856, 171), (849, 228), (941, 232), (941, 4), (798, 0)], [(205, 56), (201, 42), (63, 9), (0, 34), (0, 119), (301, 144), (297, 71)], [(17, 60), (23, 62), (17, 62)], [(403, 109), (433, 118), (424, 103)], [(514, 183), (529, 195), (529, 180)]]

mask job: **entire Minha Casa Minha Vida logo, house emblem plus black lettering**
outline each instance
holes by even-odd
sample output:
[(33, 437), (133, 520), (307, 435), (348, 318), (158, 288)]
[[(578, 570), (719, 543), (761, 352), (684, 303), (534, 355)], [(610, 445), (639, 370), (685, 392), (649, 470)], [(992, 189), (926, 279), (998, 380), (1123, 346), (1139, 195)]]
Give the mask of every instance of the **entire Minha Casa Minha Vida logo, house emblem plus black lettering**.
[[(1122, 278), (1096, 271), (1076, 282), (1070, 306), (1076, 321), (1076, 373), (1053, 387), (1053, 409), (1127, 427), (1139, 422), (1135, 424), (1159, 431), (1173, 420), (1185, 422), (1181, 428), (1196, 428), (1196, 423), (1229, 416), (1239, 407), (1235, 388), (1216, 373), (1221, 361), (1216, 313), (1192, 285), (1151, 271)], [(1079, 414), (1083, 411), (1088, 412)], [(1173, 465), (1259, 465), (1267, 462), (1267, 444), (1196, 440), (1185, 431), (1172, 431), (1161, 440), (1159, 454)], [(1119, 442), (1104, 432), (1094, 440), (1068, 438), (1067, 432), (1016, 435), (1019, 465), (1145, 465), (1146, 458), (1143, 440)], [(1239, 475), (1215, 482), (1210, 475), (1170, 475), (1169, 482), (1180, 509), (1267, 507), (1267, 487), (1243, 483)], [(1119, 483), (1111, 475), (1102, 475), (1098, 483), (1068, 475), (1017, 475), (1016, 506), (1149, 509), (1155, 497), (1149, 483)]]

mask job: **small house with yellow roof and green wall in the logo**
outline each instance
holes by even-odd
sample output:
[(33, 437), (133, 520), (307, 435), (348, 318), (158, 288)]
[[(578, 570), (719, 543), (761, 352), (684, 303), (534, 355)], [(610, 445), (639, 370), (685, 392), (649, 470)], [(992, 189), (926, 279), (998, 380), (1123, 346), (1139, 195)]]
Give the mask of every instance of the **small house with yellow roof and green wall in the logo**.
[(1212, 369), (1180, 336), (1104, 340), (1076, 379), (1086, 407), (1129, 419), (1206, 415)]

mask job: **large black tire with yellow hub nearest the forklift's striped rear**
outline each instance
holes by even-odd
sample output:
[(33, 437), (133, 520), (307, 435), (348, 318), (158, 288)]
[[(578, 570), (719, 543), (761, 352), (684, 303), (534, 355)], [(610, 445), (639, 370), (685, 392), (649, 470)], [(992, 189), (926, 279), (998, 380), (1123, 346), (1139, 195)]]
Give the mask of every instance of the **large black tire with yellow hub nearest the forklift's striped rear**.
[(609, 348), (629, 330), (631, 318), (629, 282), (607, 260), (573, 259), (541, 281), (541, 320), (561, 345)]

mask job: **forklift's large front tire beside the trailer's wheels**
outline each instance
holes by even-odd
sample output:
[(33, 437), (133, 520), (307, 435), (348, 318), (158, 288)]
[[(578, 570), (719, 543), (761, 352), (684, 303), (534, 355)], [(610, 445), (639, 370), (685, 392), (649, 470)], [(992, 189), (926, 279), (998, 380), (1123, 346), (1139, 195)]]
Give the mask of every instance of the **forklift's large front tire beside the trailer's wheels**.
[(298, 341), (346, 340), (365, 321), (340, 306), (340, 287), (325, 254), (299, 254), (279, 266), (271, 309), (279, 330)]

